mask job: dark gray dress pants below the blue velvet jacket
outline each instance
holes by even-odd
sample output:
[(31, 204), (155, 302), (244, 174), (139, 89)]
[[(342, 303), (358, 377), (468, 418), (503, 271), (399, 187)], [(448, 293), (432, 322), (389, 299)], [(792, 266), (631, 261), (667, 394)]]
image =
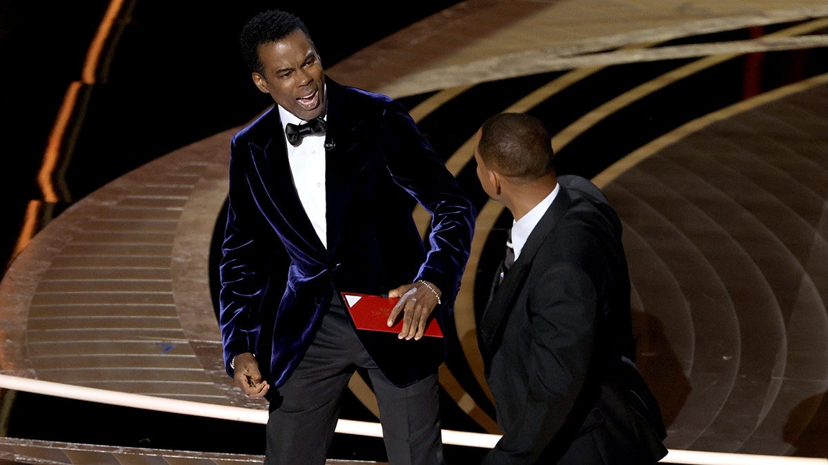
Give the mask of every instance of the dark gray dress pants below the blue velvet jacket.
[(437, 373), (411, 386), (392, 385), (368, 357), (345, 309), (334, 299), (296, 371), (270, 396), (267, 465), (325, 463), (339, 419), (339, 400), (358, 367), (368, 371), (377, 395), (389, 465), (444, 463)]

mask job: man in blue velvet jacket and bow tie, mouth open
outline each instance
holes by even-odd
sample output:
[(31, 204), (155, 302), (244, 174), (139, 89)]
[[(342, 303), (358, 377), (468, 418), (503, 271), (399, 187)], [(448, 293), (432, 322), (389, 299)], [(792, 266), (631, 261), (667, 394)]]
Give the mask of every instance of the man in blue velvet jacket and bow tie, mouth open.
[[(229, 375), (270, 401), (266, 463), (325, 463), (358, 368), (389, 462), (443, 463), (445, 346), (423, 333), (450, 317), (474, 207), (400, 103), (325, 76), (300, 19), (260, 13), (241, 45), (276, 105), (233, 137), (220, 326)], [(432, 217), (427, 251), (416, 203)], [(388, 326), (402, 318), (402, 329), (356, 329), (343, 291), (400, 297)]]

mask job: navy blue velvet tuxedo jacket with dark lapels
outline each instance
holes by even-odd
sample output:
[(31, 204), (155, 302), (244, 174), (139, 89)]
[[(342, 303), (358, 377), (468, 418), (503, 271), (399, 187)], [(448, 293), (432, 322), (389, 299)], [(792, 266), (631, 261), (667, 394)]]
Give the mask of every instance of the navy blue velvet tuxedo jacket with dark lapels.
[[(233, 137), (219, 272), (219, 325), (230, 376), (230, 360), (253, 352), (265, 379), (281, 386), (333, 293), (383, 294), (423, 279), (443, 292), (434, 312), (438, 321), (453, 311), (474, 232), (473, 204), (402, 104), (328, 78), (325, 83), (327, 249), (296, 194), (278, 108)], [(416, 202), (432, 215), (428, 252), (412, 218)], [(283, 249), (274, 247), (279, 242)], [(290, 262), (286, 283), (280, 252)], [(445, 357), (439, 339), (358, 335), (398, 386), (433, 372)]]

